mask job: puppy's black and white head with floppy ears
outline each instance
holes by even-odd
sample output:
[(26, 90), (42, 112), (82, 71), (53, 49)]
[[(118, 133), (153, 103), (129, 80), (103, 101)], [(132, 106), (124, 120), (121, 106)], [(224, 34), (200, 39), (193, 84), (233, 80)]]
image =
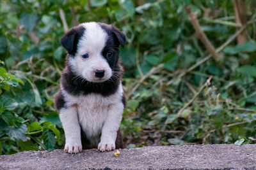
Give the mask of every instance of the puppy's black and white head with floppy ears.
[(87, 81), (109, 80), (118, 71), (119, 45), (125, 35), (112, 25), (87, 22), (68, 31), (61, 38), (67, 50), (67, 64)]

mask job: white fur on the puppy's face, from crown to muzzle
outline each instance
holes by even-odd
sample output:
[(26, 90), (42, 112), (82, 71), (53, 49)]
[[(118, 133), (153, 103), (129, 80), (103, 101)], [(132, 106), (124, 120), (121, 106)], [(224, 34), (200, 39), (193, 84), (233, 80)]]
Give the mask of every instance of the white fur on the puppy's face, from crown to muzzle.
[[(101, 52), (108, 40), (108, 34), (96, 22), (87, 22), (81, 25), (85, 28), (84, 34), (77, 44), (76, 55), (69, 57), (68, 63), (72, 67), (72, 71), (88, 81), (106, 81), (111, 78), (112, 70)], [(88, 53), (88, 59), (82, 58), (85, 53)], [(105, 71), (102, 78), (95, 77), (97, 69)]]

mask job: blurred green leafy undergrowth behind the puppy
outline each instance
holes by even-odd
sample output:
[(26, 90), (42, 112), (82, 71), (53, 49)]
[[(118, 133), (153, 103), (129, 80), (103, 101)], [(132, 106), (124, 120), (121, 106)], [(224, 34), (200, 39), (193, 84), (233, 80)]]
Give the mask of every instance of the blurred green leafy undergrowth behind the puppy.
[[(127, 36), (120, 51), (127, 148), (254, 143), (256, 2), (242, 3), (246, 11), (239, 25), (234, 1), (1, 0), (0, 154), (63, 148), (53, 104), (65, 66), (60, 38), (65, 23), (70, 29), (90, 21), (113, 24)], [(220, 60), (205, 58), (209, 52), (185, 6), (197, 13), (213, 46), (231, 38)], [(236, 31), (243, 25), (245, 41), (239, 43)], [(211, 85), (204, 85), (210, 76)]]

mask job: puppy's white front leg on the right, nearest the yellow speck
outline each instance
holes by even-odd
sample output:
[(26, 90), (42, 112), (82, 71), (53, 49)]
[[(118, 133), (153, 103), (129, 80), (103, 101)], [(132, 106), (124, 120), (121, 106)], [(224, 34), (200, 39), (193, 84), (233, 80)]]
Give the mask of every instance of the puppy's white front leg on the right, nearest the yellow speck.
[(102, 127), (100, 143), (98, 150), (104, 152), (105, 150), (115, 150), (116, 134), (120, 127), (124, 111), (124, 104), (111, 104), (108, 110), (108, 116)]

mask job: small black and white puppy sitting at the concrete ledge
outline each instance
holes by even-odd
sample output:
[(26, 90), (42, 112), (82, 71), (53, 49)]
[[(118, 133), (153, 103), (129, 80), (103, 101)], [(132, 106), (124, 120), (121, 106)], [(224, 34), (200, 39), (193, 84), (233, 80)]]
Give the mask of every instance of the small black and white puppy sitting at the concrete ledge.
[(125, 34), (112, 25), (88, 22), (61, 38), (67, 50), (56, 108), (65, 131), (65, 151), (123, 148), (120, 122), (125, 108), (119, 46)]

